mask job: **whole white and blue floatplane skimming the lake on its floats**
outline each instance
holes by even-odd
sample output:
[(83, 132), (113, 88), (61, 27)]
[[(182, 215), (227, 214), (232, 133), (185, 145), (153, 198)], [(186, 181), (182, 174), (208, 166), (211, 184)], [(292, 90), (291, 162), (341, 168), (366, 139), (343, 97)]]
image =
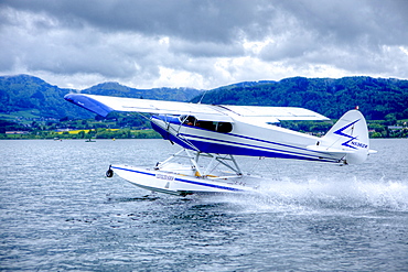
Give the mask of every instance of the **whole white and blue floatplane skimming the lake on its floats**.
[[(68, 94), (67, 101), (106, 117), (111, 111), (150, 113), (152, 128), (181, 146), (151, 168), (109, 165), (128, 182), (180, 196), (253, 192), (235, 156), (293, 159), (334, 164), (363, 163), (369, 150), (367, 124), (358, 109), (347, 111), (323, 137), (279, 124), (282, 120), (330, 120), (294, 107), (227, 106)], [(146, 116), (146, 115), (143, 115)], [(205, 160), (204, 160), (205, 157)], [(174, 163), (183, 159), (187, 163)], [(202, 162), (206, 165), (201, 165)]]

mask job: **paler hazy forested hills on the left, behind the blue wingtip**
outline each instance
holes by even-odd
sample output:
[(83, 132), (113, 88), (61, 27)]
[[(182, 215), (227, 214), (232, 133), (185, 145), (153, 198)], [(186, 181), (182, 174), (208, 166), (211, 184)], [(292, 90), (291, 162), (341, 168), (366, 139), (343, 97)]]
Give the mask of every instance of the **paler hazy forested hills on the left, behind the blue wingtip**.
[(56, 119), (86, 119), (95, 116), (65, 101), (64, 96), (69, 93), (189, 101), (201, 91), (191, 88), (135, 89), (118, 83), (104, 83), (88, 89), (75, 90), (60, 88), (29, 75), (0, 76), (0, 113), (29, 111), (36, 117)]

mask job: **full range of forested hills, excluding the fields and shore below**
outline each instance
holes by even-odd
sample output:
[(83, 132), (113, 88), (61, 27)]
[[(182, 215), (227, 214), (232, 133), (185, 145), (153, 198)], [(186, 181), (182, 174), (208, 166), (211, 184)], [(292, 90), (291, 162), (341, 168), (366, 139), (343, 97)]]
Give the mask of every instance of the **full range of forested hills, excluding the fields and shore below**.
[[(94, 117), (87, 110), (66, 102), (68, 93), (200, 101), (201, 91), (191, 88), (135, 89), (118, 83), (104, 83), (74, 90), (53, 86), (41, 78), (19, 75), (0, 77), (0, 115), (15, 111), (34, 112), (44, 118)], [(371, 120), (408, 119), (408, 80), (372, 77), (304, 78), (280, 81), (245, 81), (208, 90), (203, 104), (303, 107), (330, 118), (339, 118), (359, 106)]]

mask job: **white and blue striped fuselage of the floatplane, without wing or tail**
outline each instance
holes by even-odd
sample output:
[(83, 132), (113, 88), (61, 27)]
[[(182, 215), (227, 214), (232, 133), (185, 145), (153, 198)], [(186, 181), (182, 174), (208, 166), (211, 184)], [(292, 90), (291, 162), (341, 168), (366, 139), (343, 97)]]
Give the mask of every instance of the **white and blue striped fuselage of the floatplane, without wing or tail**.
[(273, 124), (253, 123), (235, 117), (234, 122), (194, 120), (194, 117), (153, 116), (152, 127), (163, 139), (203, 153), (297, 159), (339, 163), (341, 157), (307, 149), (319, 138)]

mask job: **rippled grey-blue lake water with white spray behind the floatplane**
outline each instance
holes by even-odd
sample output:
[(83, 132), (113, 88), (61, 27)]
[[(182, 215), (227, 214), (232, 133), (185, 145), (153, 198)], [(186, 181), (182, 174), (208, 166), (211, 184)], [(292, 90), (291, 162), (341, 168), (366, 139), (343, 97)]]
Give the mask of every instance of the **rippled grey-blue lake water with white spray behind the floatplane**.
[(162, 140), (0, 141), (0, 270), (408, 271), (408, 140), (361, 165), (238, 160), (259, 195), (151, 194)]

